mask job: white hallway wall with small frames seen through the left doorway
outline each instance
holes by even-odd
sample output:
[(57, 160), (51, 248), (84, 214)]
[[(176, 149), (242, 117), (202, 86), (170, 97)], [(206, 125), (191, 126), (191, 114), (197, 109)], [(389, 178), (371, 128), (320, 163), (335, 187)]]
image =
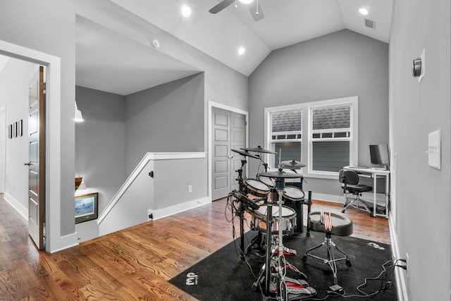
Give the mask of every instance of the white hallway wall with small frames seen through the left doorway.
[[(28, 81), (37, 65), (9, 59), (0, 73), (0, 106), (5, 106), (6, 187), (4, 198), (17, 211), (28, 217)], [(23, 136), (8, 138), (8, 125), (23, 120)]]

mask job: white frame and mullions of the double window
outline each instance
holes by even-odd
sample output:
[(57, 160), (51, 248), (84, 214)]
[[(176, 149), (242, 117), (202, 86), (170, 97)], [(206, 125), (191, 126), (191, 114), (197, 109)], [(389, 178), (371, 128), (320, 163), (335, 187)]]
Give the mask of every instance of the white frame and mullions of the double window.
[[(318, 138), (313, 138), (313, 124), (312, 124), (312, 110), (328, 107), (328, 106), (340, 106), (340, 105), (350, 105), (350, 137), (335, 137), (335, 138), (321, 138), (321, 141), (349, 141), (350, 142), (350, 166), (356, 165), (359, 161), (359, 152), (358, 152), (358, 112), (359, 112), (359, 99), (357, 96), (354, 97), (343, 97), (337, 99), (328, 99), (322, 100), (318, 102), (305, 102), (299, 104), (289, 104), (285, 106), (272, 106), (264, 109), (264, 145), (266, 149), (271, 149), (271, 142), (273, 141), (271, 138), (271, 113), (275, 111), (288, 111), (293, 109), (302, 110), (302, 139), (300, 142), (301, 146), (301, 161), (306, 163), (307, 166), (301, 168), (299, 173), (302, 173), (302, 176), (308, 178), (328, 178), (328, 179), (336, 179), (338, 177), (338, 172), (335, 171), (314, 171), (312, 169), (313, 166), (313, 142), (319, 141)], [(319, 130), (316, 130), (318, 132)], [(340, 130), (327, 130), (330, 132), (343, 132), (343, 129)], [(279, 140), (275, 140), (279, 141)], [(290, 140), (290, 142), (295, 142), (299, 140)], [(265, 161), (270, 164), (270, 154), (265, 154)], [(272, 170), (276, 169), (276, 166), (271, 166)], [(286, 169), (286, 171), (289, 171)]]

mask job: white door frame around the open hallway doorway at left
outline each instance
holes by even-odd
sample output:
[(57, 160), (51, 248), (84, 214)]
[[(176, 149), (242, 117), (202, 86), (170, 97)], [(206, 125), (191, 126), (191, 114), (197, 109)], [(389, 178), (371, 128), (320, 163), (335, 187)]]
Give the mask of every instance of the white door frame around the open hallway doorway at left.
[[(61, 236), (61, 59), (0, 40), (0, 54), (47, 68), (46, 87), (46, 251), (77, 245), (77, 235)], [(75, 226), (74, 226), (75, 227)], [(75, 228), (74, 228), (75, 229)], [(74, 231), (75, 232), (75, 231)]]

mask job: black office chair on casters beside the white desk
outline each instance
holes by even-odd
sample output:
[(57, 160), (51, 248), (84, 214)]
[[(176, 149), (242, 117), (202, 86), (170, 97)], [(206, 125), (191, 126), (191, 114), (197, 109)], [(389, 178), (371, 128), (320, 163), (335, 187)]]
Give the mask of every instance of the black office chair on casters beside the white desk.
[[(357, 202), (357, 204), (354, 204), (353, 206), (358, 210), (360, 209), (360, 196), (362, 195), (362, 192), (369, 192), (373, 191), (373, 188), (369, 185), (363, 185), (359, 184), (359, 173), (357, 171), (351, 171), (349, 169), (342, 169), (338, 173), (338, 180), (340, 180), (341, 188), (343, 190), (343, 193), (346, 195), (346, 202), (345, 202), (345, 208), (342, 209), (342, 213), (345, 213), (345, 210), (350, 207), (354, 202)], [(355, 195), (355, 198), (351, 201), (347, 199), (347, 193), (352, 193), (352, 195)], [(365, 204), (365, 202), (362, 202), (362, 206), (364, 207), (365, 211), (368, 211), (371, 214), (371, 210), (369, 209), (368, 205)]]

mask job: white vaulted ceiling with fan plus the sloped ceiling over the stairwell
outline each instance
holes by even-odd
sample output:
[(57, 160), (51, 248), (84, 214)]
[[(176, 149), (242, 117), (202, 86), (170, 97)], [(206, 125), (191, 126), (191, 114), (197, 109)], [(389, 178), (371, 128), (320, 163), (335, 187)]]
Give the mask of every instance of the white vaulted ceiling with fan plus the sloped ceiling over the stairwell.
[[(393, 6), (393, 0), (259, 0), (264, 19), (255, 22), (238, 0), (237, 8), (232, 4), (217, 14), (209, 9), (219, 0), (110, 1), (244, 75), (275, 49), (338, 30), (388, 43)], [(183, 4), (192, 8), (189, 18), (180, 15)], [(359, 14), (362, 6), (369, 8), (369, 16)], [(374, 30), (364, 18), (375, 22)], [(83, 87), (126, 95), (200, 71), (161, 51), (151, 57), (149, 47), (82, 18), (76, 41), (76, 79)], [(242, 56), (240, 46), (247, 49)]]

